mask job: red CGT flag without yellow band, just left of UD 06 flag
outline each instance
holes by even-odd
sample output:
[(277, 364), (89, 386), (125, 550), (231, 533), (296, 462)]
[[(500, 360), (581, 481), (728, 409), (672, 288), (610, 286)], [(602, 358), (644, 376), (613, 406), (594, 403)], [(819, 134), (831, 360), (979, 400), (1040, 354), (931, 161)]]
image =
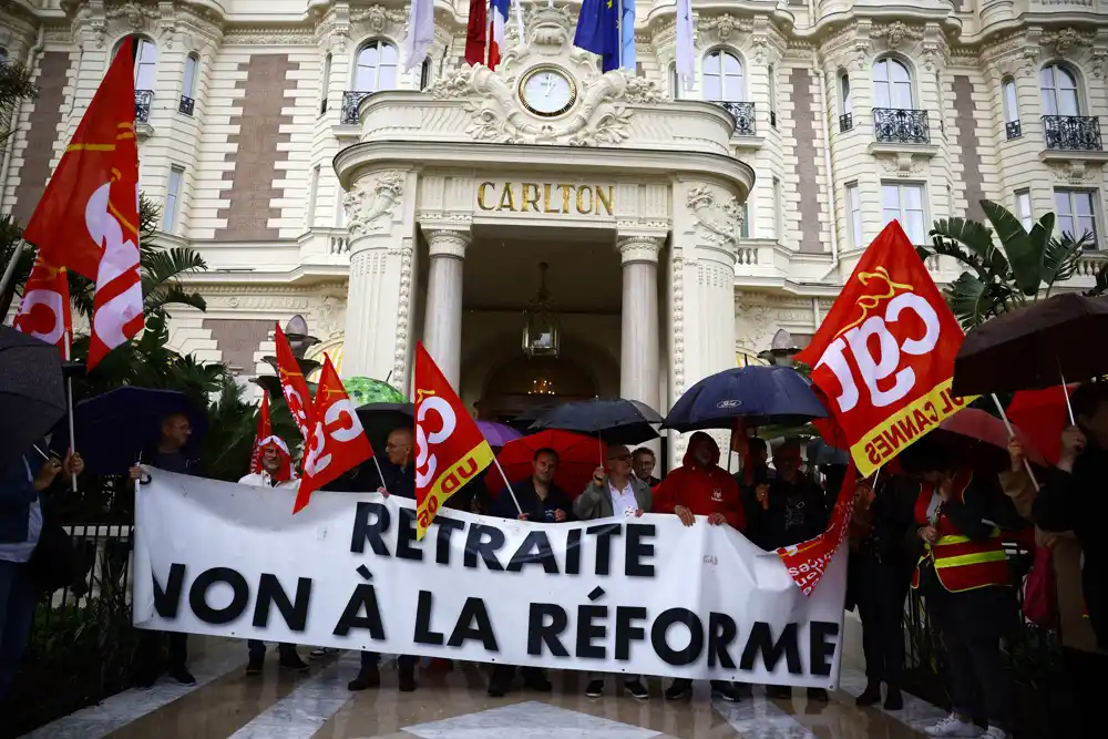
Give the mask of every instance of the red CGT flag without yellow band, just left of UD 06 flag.
[(324, 359), (312, 415), (311, 435), (304, 448), (304, 478), (293, 513), (308, 504), (311, 493), (373, 456), (357, 408), (342, 388), (330, 357)]

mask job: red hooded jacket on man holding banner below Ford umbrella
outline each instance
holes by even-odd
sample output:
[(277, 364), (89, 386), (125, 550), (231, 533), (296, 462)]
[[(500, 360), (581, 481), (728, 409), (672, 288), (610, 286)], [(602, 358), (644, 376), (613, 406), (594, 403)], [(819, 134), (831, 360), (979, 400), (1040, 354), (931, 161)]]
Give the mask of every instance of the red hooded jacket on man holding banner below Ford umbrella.
[[(707, 466), (693, 459), (693, 449), (700, 443), (699, 439), (707, 439), (711, 444), (711, 462)], [(654, 490), (655, 513), (673, 513), (678, 505), (684, 505), (695, 515), (722, 513), (732, 528), (741, 532), (747, 528), (739, 485), (719, 466), (719, 445), (702, 431), (697, 431), (689, 439), (681, 466), (666, 475)]]

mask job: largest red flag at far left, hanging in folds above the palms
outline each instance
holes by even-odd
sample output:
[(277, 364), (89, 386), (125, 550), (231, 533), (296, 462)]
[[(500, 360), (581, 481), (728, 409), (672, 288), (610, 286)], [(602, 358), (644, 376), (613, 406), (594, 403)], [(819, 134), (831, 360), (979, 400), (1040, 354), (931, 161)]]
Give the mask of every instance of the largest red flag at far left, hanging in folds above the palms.
[(96, 283), (89, 369), (143, 328), (134, 43), (121, 45), (23, 229), (45, 261)]

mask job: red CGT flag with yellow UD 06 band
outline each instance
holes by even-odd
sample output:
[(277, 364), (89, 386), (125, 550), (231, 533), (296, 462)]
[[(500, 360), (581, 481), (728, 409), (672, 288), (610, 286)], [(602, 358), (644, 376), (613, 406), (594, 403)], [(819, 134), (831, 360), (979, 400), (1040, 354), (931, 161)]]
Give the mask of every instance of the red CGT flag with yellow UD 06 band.
[(420, 341), (416, 346), (416, 537), (458, 490), (492, 464), (481, 429)]

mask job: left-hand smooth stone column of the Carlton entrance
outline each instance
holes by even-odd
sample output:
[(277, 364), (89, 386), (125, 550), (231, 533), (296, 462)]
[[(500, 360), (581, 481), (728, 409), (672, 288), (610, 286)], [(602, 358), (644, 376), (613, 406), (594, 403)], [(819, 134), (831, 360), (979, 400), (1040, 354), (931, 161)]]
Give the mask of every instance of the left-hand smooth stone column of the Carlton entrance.
[(462, 268), (469, 229), (423, 232), (431, 257), (427, 283), (423, 346), (450, 386), (458, 390), (462, 373)]

